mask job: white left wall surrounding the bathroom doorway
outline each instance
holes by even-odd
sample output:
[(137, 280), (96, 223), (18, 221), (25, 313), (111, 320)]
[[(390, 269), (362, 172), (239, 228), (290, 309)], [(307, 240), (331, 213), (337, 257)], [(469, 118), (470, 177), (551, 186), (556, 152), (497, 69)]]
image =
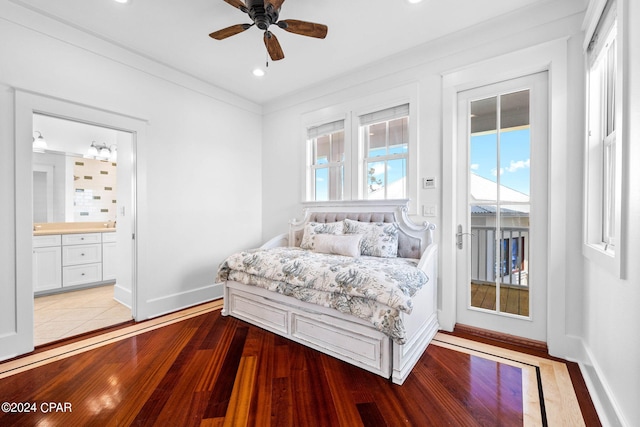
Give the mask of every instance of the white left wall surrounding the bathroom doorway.
[(138, 318), (214, 298), (218, 264), (260, 240), (260, 107), (7, 0), (0, 40), (0, 336), (15, 332), (16, 289), (31, 286), (16, 283), (14, 267), (14, 212), (24, 206), (14, 194), (15, 88), (146, 121)]

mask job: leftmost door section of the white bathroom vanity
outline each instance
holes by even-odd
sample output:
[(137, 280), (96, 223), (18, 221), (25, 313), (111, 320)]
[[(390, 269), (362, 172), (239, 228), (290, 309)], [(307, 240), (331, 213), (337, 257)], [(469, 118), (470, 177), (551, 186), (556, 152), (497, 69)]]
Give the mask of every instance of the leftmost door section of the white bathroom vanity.
[(59, 234), (33, 237), (33, 290), (62, 287), (62, 238)]

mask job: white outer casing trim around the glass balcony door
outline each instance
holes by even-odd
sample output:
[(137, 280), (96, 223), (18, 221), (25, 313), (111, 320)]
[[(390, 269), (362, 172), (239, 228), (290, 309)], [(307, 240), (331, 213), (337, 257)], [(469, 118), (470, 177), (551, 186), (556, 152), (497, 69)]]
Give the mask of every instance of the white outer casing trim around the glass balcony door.
[[(509, 80), (540, 71), (549, 72), (549, 182), (563, 182), (568, 153), (567, 139), (567, 40), (560, 39), (512, 52), (488, 61), (443, 73), (443, 144), (442, 144), (442, 225), (440, 245), (441, 281), (438, 320), (444, 330), (456, 324), (456, 217), (455, 198), (457, 160), (458, 92)], [(547, 345), (553, 355), (568, 357), (580, 353), (580, 342), (567, 334), (566, 309), (566, 188), (549, 189), (549, 236), (553, 237), (547, 253), (549, 286), (547, 295)], [(562, 273), (559, 275), (559, 273)], [(551, 328), (550, 325), (553, 325)]]

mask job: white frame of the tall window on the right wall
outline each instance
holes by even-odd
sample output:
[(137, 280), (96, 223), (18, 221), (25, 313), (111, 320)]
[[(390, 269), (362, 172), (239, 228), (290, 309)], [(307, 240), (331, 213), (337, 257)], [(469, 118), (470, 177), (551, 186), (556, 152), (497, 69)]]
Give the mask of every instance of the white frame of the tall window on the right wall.
[[(624, 277), (625, 200), (623, 162), (628, 141), (623, 125), (628, 96), (624, 93), (623, 0), (597, 0), (590, 5), (585, 31), (585, 159), (582, 253), (615, 277)], [(607, 66), (609, 46), (615, 55)], [(607, 73), (613, 68), (614, 91)], [(609, 92), (608, 92), (609, 91)], [(613, 97), (613, 98), (612, 98)], [(607, 108), (611, 107), (611, 108)], [(613, 113), (613, 120), (609, 120)], [(608, 126), (609, 120), (609, 126)], [(610, 125), (612, 129), (608, 129)], [(608, 148), (612, 155), (608, 156)]]

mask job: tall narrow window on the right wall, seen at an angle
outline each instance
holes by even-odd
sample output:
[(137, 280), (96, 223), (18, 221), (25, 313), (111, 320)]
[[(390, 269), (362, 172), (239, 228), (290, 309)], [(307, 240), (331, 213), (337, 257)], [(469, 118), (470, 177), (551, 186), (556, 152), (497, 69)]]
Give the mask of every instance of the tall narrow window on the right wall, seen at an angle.
[[(615, 0), (604, 4), (588, 40), (585, 254), (592, 259), (603, 259), (604, 263), (612, 262), (614, 269), (621, 274), (618, 248), (622, 209), (622, 102), (619, 99), (622, 91), (618, 64), (622, 63), (622, 58), (619, 56), (621, 50)], [(603, 255), (609, 260), (604, 260)]]

